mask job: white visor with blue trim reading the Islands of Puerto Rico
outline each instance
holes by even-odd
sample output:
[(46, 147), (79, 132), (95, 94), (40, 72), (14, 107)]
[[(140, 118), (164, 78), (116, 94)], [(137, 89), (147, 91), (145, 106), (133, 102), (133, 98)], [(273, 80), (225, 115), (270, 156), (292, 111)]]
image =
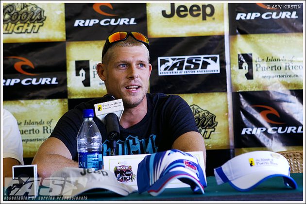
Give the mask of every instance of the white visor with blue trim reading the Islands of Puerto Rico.
[(218, 185), (229, 182), (238, 191), (251, 190), (275, 176), (282, 176), (286, 186), (297, 188), (296, 182), (290, 177), (287, 159), (270, 151), (240, 154), (214, 169), (214, 173)]

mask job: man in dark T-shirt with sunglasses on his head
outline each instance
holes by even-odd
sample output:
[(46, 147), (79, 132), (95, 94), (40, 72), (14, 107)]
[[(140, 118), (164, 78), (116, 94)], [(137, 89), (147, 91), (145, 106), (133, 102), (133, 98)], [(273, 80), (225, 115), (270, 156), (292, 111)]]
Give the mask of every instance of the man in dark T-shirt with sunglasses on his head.
[[(148, 47), (147, 37), (140, 33), (111, 34), (103, 47), (102, 63), (97, 65), (107, 93), (122, 99), (124, 105), (117, 155), (179, 149), (203, 151), (205, 160), (204, 140), (188, 104), (179, 96), (147, 94), (152, 70)], [(76, 136), (83, 122), (82, 110), (94, 109), (100, 102), (81, 103), (58, 121), (33, 160), (40, 177), (63, 167), (78, 167)], [(105, 126), (97, 117), (94, 120), (102, 134), (103, 155), (110, 155)]]

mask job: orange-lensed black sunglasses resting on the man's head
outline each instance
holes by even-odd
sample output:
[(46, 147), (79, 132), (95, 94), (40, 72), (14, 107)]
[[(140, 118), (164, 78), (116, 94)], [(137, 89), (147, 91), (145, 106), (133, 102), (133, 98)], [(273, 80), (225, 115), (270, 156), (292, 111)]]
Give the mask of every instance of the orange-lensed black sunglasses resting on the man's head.
[(103, 58), (103, 56), (105, 55), (106, 51), (109, 49), (109, 47), (112, 43), (126, 40), (129, 35), (131, 35), (137, 41), (142, 42), (149, 49), (149, 40), (143, 34), (138, 33), (138, 32), (121, 31), (121, 32), (116, 32), (116, 33), (108, 36), (108, 38), (106, 39), (106, 42), (104, 44), (104, 47), (103, 47), (102, 58)]

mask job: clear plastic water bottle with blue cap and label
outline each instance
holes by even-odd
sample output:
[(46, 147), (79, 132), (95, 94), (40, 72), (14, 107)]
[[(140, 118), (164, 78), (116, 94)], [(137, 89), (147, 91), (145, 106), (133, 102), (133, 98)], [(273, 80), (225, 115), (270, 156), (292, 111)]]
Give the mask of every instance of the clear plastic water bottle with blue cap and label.
[(83, 110), (83, 123), (77, 136), (79, 168), (101, 170), (102, 136), (93, 118), (93, 109)]

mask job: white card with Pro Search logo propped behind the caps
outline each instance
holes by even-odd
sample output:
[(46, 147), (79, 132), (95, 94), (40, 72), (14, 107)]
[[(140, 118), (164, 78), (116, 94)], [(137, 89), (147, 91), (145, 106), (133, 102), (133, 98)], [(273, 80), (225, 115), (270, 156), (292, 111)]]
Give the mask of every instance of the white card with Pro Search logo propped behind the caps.
[[(205, 164), (203, 152), (187, 152), (196, 157), (205, 175)], [(125, 185), (137, 187), (137, 170), (138, 164), (145, 156), (150, 154), (134, 154), (134, 155), (119, 155), (119, 156), (103, 156), (104, 170), (114, 172), (117, 180)], [(206, 175), (205, 175), (206, 177)], [(190, 187), (188, 184), (181, 182), (178, 179), (172, 180), (167, 184), (166, 188), (174, 187)]]

